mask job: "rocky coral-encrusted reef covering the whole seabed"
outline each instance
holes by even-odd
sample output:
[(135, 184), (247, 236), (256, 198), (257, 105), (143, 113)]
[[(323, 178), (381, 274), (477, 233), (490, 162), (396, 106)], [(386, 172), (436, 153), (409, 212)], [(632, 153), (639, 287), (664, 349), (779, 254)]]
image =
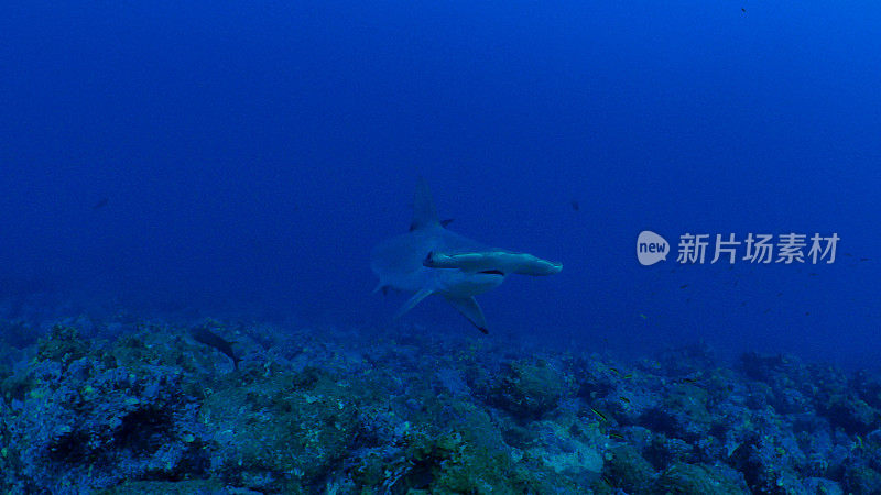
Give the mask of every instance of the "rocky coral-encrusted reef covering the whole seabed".
[(240, 362), (187, 324), (0, 321), (0, 491), (881, 493), (869, 371), (196, 324)]

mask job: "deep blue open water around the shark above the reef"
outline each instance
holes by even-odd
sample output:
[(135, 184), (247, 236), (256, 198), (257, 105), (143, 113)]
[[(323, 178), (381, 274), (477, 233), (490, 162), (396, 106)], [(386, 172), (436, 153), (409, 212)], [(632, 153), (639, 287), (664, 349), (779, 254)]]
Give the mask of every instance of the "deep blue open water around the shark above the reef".
[[(404, 298), (369, 253), (422, 175), (453, 230), (564, 263), (480, 296), (489, 338), (881, 354), (875, 4), (2, 10), (4, 298), (385, 324)], [(644, 267), (642, 230), (841, 240), (831, 265)], [(406, 320), (474, 331), (439, 298)]]

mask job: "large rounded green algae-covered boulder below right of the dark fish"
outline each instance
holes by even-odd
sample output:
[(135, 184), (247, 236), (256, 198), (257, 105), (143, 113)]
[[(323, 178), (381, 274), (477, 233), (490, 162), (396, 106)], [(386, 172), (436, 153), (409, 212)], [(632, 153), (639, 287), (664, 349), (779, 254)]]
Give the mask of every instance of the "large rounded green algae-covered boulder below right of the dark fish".
[(293, 493), (326, 476), (359, 429), (349, 391), (329, 377), (306, 391), (293, 389), (290, 377), (219, 391), (198, 420), (214, 430), (225, 480)]

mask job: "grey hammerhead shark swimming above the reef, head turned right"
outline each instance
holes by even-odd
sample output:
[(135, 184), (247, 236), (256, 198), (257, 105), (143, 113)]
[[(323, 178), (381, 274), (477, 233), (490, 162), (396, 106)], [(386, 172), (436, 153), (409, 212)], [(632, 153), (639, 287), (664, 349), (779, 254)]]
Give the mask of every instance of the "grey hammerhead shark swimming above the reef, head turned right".
[(420, 178), (407, 233), (373, 249), (370, 267), (379, 277), (373, 290), (390, 288), (415, 293), (394, 315), (398, 319), (421, 300), (438, 294), (478, 330), (488, 333), (483, 311), (475, 296), (498, 287), (511, 274), (553, 275), (562, 263), (486, 246), (452, 232), (452, 220), (439, 220), (425, 179)]

